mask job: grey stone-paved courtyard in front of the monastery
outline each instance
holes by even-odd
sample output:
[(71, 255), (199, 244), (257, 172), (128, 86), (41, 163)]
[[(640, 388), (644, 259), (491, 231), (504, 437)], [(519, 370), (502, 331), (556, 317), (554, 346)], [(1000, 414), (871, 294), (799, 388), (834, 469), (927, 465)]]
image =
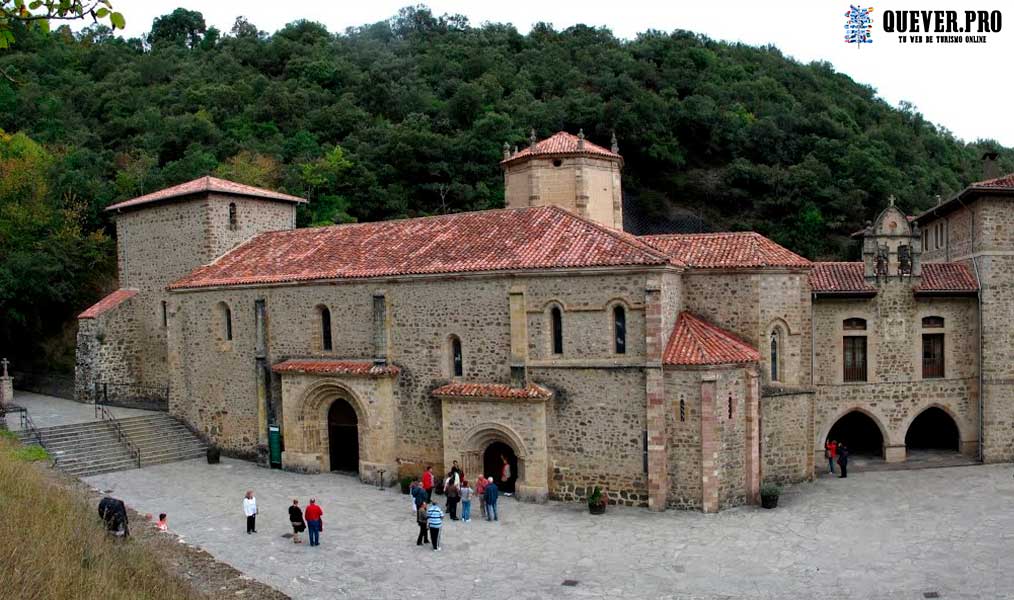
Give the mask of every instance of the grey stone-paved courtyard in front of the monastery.
[[(293, 598), (1014, 598), (1010, 465), (824, 476), (776, 510), (718, 515), (504, 499), (499, 523), (448, 522), (440, 552), (415, 545), (408, 497), (350, 476), (195, 460), (85, 480), (168, 513), (188, 543)], [(291, 499), (311, 495), (324, 511), (313, 548), (282, 537)]]

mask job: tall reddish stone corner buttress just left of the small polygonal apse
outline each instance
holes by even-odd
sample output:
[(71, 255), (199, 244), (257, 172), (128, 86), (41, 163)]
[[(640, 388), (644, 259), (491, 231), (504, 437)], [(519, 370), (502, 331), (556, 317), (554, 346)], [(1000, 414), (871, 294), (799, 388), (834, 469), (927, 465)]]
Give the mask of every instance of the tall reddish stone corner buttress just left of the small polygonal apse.
[(645, 289), (645, 430), (648, 434), (648, 508), (664, 511), (669, 468), (665, 433), (665, 386), (662, 378), (662, 288), (649, 280)]

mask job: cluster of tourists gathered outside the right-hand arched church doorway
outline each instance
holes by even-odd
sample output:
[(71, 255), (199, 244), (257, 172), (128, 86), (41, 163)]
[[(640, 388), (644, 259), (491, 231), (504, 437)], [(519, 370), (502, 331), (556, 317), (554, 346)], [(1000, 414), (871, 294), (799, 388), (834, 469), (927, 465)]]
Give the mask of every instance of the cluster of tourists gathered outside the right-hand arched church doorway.
[[(501, 483), (506, 483), (510, 479), (510, 465), (503, 459), (504, 468), (500, 473)], [(412, 511), (416, 516), (416, 524), (419, 526), (419, 535), (416, 537), (416, 545), (432, 543), (433, 550), (440, 549), (440, 531), (443, 527), (444, 510), (440, 508), (438, 502), (433, 500), (435, 479), (433, 475), (433, 465), (426, 465), (423, 471), (422, 480), (413, 479), (409, 486), (409, 494), (412, 496)], [(497, 500), (500, 497), (500, 488), (493, 477), (486, 474), (479, 476), (476, 488), (473, 489), (464, 473), (455, 460), (443, 480), (443, 492), (447, 498), (446, 515), (451, 521), (472, 521), (473, 498), (479, 499), (479, 507), (482, 516), (487, 521), (499, 521), (497, 514)], [(461, 505), (461, 516), (457, 516), (457, 505)]]

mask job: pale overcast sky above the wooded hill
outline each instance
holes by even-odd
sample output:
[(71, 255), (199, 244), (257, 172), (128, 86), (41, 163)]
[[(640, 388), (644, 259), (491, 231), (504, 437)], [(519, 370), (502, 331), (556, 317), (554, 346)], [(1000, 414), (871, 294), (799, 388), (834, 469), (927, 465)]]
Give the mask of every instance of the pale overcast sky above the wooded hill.
[[(177, 6), (202, 12), (209, 25), (223, 32), (229, 30), (237, 15), (245, 16), (266, 31), (275, 31), (299, 18), (319, 21), (332, 31), (342, 31), (388, 18), (411, 3), (409, 0), (113, 0), (116, 9), (127, 17), (128, 36), (147, 31), (153, 18)], [(989, 33), (988, 42), (979, 45), (899, 44), (896, 33), (882, 30), (884, 11), (1003, 10), (1004, 2), (867, 2), (863, 6), (873, 6), (875, 21), (874, 43), (869, 45), (845, 44), (845, 12), (849, 2), (841, 0), (432, 0), (426, 4), (437, 14), (464, 14), (473, 24), (510, 22), (522, 32), (527, 32), (532, 23), (547, 21), (557, 28), (576, 23), (606, 26), (628, 39), (648, 28), (678, 28), (717, 40), (772, 44), (803, 62), (830, 62), (839, 71), (872, 85), (892, 104), (899, 100), (912, 102), (927, 119), (959, 138), (967, 141), (993, 138), (1005, 146), (1014, 146), (1014, 118), (1010, 108), (1014, 85), (1008, 73), (1010, 59), (1014, 57), (1014, 3), (1007, 3), (1009, 8), (1003, 12), (1005, 21), (1000, 32)]]

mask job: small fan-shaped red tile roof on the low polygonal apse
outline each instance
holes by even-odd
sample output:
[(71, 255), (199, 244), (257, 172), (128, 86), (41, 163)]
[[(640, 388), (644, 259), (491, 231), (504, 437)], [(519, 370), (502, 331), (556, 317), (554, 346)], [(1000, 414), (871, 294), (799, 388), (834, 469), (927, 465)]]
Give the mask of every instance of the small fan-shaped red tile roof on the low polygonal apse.
[(734, 365), (760, 360), (749, 344), (691, 312), (676, 318), (662, 362), (666, 365)]

